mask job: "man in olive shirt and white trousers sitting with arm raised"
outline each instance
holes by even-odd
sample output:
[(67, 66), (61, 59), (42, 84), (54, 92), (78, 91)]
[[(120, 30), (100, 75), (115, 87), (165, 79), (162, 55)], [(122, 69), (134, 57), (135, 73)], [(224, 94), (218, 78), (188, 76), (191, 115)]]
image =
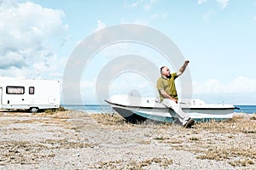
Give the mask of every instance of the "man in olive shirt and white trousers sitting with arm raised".
[(186, 60), (183, 66), (174, 73), (170, 73), (170, 70), (166, 66), (160, 68), (161, 77), (157, 81), (156, 88), (160, 94), (160, 101), (166, 107), (172, 108), (177, 113), (178, 120), (182, 122), (183, 127), (189, 128), (194, 125), (195, 121), (191, 119), (177, 104), (177, 90), (175, 87), (175, 79), (183, 74), (189, 60)]

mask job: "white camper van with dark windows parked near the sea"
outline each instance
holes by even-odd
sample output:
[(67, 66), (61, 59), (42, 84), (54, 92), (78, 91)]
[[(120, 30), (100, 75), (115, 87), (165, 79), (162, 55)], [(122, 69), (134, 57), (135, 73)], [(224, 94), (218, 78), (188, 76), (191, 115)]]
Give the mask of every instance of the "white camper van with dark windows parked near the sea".
[(60, 81), (0, 77), (0, 109), (59, 108), (60, 89)]

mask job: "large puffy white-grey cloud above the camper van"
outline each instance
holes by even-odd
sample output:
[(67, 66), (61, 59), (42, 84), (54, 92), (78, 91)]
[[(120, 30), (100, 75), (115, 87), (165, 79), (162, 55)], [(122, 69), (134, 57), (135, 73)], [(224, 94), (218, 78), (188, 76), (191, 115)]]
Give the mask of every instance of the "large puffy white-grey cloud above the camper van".
[(58, 58), (51, 41), (66, 37), (65, 14), (35, 3), (0, 1), (0, 74), (49, 76)]

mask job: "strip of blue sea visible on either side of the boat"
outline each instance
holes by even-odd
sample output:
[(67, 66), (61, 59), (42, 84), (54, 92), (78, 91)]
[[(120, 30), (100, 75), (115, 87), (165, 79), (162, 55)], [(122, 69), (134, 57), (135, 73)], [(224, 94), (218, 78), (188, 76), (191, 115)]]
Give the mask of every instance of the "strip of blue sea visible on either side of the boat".
[[(84, 111), (86, 113), (113, 113), (110, 105), (61, 105), (67, 110)], [(236, 113), (253, 114), (256, 113), (256, 105), (234, 105), (238, 109)]]

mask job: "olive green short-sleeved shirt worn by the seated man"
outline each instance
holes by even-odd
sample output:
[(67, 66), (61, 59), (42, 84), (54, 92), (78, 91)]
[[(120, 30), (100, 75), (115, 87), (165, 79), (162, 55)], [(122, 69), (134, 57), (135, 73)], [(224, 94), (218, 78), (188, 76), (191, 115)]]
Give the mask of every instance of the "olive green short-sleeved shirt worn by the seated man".
[[(160, 77), (157, 81), (156, 88), (158, 89), (159, 94), (160, 90), (165, 90), (166, 93), (169, 94), (172, 98), (177, 99), (177, 91), (174, 82), (177, 78), (177, 73), (174, 72), (171, 75), (172, 77), (167, 79), (164, 77)], [(164, 97), (160, 94), (160, 101), (162, 101), (163, 99)]]

